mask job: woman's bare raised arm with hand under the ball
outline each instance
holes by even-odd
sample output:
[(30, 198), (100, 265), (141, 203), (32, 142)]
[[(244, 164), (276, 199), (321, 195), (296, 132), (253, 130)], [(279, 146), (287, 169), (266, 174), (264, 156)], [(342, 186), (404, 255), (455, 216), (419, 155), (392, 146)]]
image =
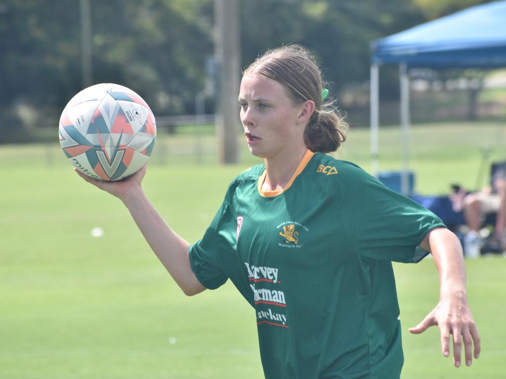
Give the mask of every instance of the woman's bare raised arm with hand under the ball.
[(124, 180), (113, 182), (95, 180), (77, 169), (74, 171), (123, 202), (153, 252), (186, 295), (196, 295), (205, 290), (190, 266), (190, 244), (166, 224), (142, 190), (141, 182), (146, 166)]

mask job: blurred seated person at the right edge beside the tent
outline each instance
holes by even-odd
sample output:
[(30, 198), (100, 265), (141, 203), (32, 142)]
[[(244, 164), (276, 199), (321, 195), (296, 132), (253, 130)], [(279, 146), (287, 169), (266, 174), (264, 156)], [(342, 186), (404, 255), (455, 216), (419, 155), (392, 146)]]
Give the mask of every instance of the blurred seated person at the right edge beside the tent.
[[(486, 215), (495, 213), (495, 227), (490, 240), (490, 248), (497, 252), (506, 250), (506, 163), (499, 165), (492, 175), (492, 185), (482, 191), (466, 195), (462, 200), (462, 209), (466, 224), (470, 228), (469, 240), (480, 239), (479, 231)], [(492, 249), (494, 250), (494, 249)]]

